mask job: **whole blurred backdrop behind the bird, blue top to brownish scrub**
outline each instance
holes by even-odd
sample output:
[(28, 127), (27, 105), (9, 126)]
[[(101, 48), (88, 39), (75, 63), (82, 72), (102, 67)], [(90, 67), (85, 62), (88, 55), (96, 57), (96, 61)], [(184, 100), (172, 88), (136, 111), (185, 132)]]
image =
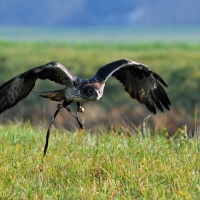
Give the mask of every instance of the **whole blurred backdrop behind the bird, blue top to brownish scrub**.
[[(99, 67), (121, 58), (148, 65), (169, 86), (172, 109), (152, 115), (153, 127), (167, 125), (172, 132), (183, 125), (194, 129), (200, 100), (200, 1), (0, 0), (0, 84), (52, 60), (89, 78)], [(37, 92), (55, 88), (63, 86), (39, 80), (0, 121), (48, 124), (57, 103), (39, 98)], [(139, 126), (149, 115), (114, 78), (108, 80), (103, 99), (85, 108), (81, 119), (91, 130)], [(64, 110), (56, 126), (78, 127)]]

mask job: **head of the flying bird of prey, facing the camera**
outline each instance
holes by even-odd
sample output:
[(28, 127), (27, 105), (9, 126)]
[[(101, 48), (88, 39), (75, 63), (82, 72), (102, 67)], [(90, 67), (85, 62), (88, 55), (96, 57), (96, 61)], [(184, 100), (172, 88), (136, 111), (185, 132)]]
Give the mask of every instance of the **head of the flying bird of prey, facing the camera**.
[(80, 94), (88, 101), (98, 101), (101, 98), (101, 92), (97, 88), (91, 86), (81, 88)]

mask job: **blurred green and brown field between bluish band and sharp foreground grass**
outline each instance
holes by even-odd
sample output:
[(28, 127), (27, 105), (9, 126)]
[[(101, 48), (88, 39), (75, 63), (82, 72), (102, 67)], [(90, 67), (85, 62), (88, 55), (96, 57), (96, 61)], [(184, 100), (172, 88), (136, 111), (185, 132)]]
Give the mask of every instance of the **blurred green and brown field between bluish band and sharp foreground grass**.
[[(113, 60), (129, 58), (147, 64), (168, 84), (166, 89), (172, 103), (171, 111), (151, 116), (153, 126), (162, 127), (167, 123), (174, 132), (177, 127), (187, 125), (194, 132), (194, 110), (200, 99), (200, 45), (184, 43), (141, 43), (141, 44), (100, 44), (100, 43), (33, 43), (0, 42), (0, 84), (30, 68), (52, 60), (63, 63), (73, 74), (89, 78), (96, 70)], [(30, 119), (34, 124), (50, 121), (55, 102), (38, 97), (37, 92), (62, 88), (50, 81), (38, 81), (33, 92), (14, 108), (3, 113), (5, 119)], [(139, 125), (149, 115), (147, 109), (132, 100), (123, 86), (113, 78), (107, 81), (103, 99), (85, 104), (81, 115), (85, 126), (95, 129), (102, 124)], [(74, 129), (76, 122), (66, 112), (59, 113), (57, 126)]]

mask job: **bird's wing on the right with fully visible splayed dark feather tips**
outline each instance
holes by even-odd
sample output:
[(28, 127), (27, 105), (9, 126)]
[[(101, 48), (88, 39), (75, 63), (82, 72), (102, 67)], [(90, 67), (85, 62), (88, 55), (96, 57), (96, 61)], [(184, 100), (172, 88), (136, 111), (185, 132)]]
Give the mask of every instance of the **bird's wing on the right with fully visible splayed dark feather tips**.
[(94, 78), (105, 82), (111, 75), (124, 85), (132, 98), (145, 104), (152, 113), (156, 114), (156, 107), (162, 112), (163, 106), (170, 109), (169, 98), (161, 86), (167, 87), (167, 84), (147, 66), (128, 59), (117, 60), (101, 67)]

